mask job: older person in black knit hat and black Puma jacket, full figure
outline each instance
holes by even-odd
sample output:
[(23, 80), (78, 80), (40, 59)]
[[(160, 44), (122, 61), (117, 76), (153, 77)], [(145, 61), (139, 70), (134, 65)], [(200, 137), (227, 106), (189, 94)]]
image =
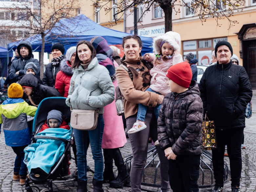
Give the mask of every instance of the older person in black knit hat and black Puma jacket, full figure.
[(252, 89), (245, 68), (232, 64), (233, 49), (227, 41), (215, 47), (217, 64), (207, 67), (200, 81), (204, 114), (216, 127), (217, 149), (212, 150), (215, 186), (212, 192), (223, 190), (224, 152), (227, 144), (230, 160), (232, 192), (240, 191), (242, 171), (241, 143), (245, 128), (245, 108), (252, 98)]

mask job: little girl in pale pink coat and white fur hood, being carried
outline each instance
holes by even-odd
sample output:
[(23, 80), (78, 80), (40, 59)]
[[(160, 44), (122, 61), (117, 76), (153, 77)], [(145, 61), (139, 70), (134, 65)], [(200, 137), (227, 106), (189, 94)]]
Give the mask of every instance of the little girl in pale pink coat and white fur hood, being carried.
[[(150, 86), (146, 91), (154, 92), (161, 95), (170, 93), (170, 88), (166, 84), (168, 78), (166, 77), (167, 70), (177, 63), (183, 62), (182, 56), (179, 53), (181, 50), (181, 36), (177, 32), (166, 32), (164, 35), (158, 36), (154, 39), (154, 50), (157, 53), (144, 54), (144, 60), (152, 62), (154, 67), (150, 70), (152, 76)], [(137, 69), (136, 69), (137, 70)], [(139, 71), (144, 69), (138, 69)], [(147, 85), (145, 85), (147, 86)], [(132, 134), (145, 129), (145, 115), (148, 106), (139, 104), (137, 121), (134, 123), (127, 133)], [(158, 118), (161, 109), (161, 104), (154, 107), (154, 112)], [(156, 141), (158, 144), (158, 142)]]

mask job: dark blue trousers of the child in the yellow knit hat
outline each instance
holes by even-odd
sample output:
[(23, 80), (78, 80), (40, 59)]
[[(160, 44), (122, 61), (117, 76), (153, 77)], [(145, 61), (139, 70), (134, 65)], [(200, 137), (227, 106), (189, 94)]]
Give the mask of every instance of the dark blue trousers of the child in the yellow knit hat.
[(16, 154), (13, 171), (19, 172), (20, 176), (24, 176), (28, 174), (27, 165), (23, 162), (25, 157), (25, 152), (24, 152), (25, 147), (27, 146), (11, 147), (14, 153)]

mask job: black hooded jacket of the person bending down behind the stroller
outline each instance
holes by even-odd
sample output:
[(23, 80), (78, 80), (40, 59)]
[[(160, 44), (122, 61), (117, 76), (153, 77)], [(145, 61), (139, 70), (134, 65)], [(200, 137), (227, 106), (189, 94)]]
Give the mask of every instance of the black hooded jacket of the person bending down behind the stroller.
[(32, 87), (33, 91), (31, 94), (31, 99), (36, 105), (38, 105), (44, 98), (60, 97), (57, 89), (41, 85), (38, 83), (37, 78), (33, 74), (24, 75), (24, 77), (20, 80), (20, 85)]

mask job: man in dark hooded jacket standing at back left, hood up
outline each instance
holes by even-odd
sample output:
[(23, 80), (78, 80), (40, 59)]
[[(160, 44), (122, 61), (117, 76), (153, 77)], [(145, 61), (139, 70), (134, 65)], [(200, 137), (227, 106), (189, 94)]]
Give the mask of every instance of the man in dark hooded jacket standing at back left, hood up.
[(9, 72), (9, 77), (11, 82), (17, 82), (19, 77), (25, 75), (24, 67), (29, 62), (36, 63), (38, 68), (38, 73), (36, 76), (40, 76), (40, 64), (37, 59), (32, 58), (32, 45), (28, 41), (23, 41), (17, 47), (17, 51), (19, 53), (20, 58), (17, 60), (12, 61), (11, 69)]

